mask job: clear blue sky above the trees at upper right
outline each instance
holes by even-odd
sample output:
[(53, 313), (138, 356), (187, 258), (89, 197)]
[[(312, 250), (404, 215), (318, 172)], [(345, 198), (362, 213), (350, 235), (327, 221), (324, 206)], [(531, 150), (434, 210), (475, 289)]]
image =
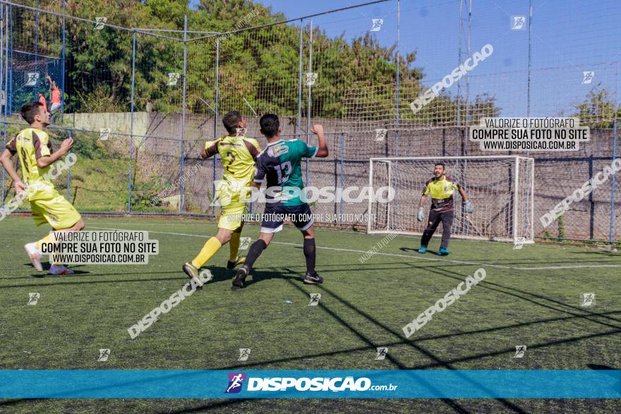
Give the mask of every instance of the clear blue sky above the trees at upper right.
[[(363, 1), (257, 2), (271, 6), (272, 11), (280, 11), (287, 18), (298, 18)], [(593, 87), (605, 87), (618, 103), (621, 1), (532, 0), (532, 5), (529, 77), (529, 1), (472, 1), (471, 54), (485, 44), (493, 46), (493, 54), (469, 73), (471, 97), (488, 92), (496, 97), (503, 116), (526, 116), (528, 111), (531, 116), (568, 114)], [(467, 13), (459, 56), (459, 7), (459, 0), (400, 1), (399, 51), (417, 52), (414, 66), (425, 73), (426, 87), (450, 74), (469, 57)], [(521, 30), (512, 30), (514, 16), (518, 22), (519, 16), (524, 16)], [(397, 0), (312, 18), (313, 25), (319, 25), (328, 35), (344, 33), (347, 39), (368, 32), (373, 19), (383, 19), (380, 30), (373, 32), (380, 42), (385, 46), (395, 44)], [(457, 85), (447, 92), (456, 93)]]

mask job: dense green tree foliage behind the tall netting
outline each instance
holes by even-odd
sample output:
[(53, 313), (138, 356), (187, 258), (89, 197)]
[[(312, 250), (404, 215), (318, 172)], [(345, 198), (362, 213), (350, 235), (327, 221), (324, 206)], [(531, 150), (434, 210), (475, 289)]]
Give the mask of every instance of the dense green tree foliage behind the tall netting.
[[(59, 4), (46, 7), (59, 11)], [(196, 10), (189, 7), (187, 0), (67, 0), (66, 13), (89, 20), (105, 16), (107, 23), (123, 28), (171, 30), (183, 30), (183, 16), (187, 15), (189, 30), (222, 33), (284, 20), (282, 13), (273, 13), (271, 8), (248, 0), (203, 0)], [(25, 32), (22, 37), (26, 42), (33, 44), (34, 24), (32, 16), (27, 15), (20, 15), (23, 21), (16, 27)], [(49, 17), (42, 21), (42, 30), (58, 32), (59, 22)], [(179, 33), (164, 34), (181, 37)], [(65, 90), (71, 91), (66, 112), (129, 111), (133, 32), (109, 27), (95, 30), (92, 23), (67, 19), (66, 35)], [(305, 61), (310, 35), (306, 28)], [(329, 37), (315, 27), (312, 37), (313, 71), (318, 72), (313, 86), (314, 116), (342, 117), (346, 88), (394, 85), (397, 65), (402, 84), (411, 85), (413, 93), (421, 90), (423, 73), (414, 67), (415, 51), (406, 51), (397, 59), (395, 46), (383, 47), (370, 32), (348, 40), (344, 35)], [(60, 36), (51, 36), (40, 38), (38, 44), (40, 49), (59, 56), (60, 40)], [(296, 114), (299, 40), (299, 28), (294, 25), (272, 25), (219, 37), (220, 111), (244, 107), (246, 98), (259, 114)], [(183, 73), (183, 42), (137, 32), (135, 44), (135, 110), (180, 112), (183, 79), (176, 86), (168, 86), (167, 74)], [(195, 113), (211, 113), (208, 105), (215, 102), (215, 37), (190, 41), (187, 46), (187, 107)], [(32, 90), (24, 93), (31, 94)], [(306, 87), (303, 94), (306, 95)], [(387, 103), (394, 102), (393, 95), (386, 94)], [(435, 114), (444, 118), (456, 115), (456, 106), (450, 100), (439, 99), (435, 103), (443, 104), (447, 108), (435, 108)]]

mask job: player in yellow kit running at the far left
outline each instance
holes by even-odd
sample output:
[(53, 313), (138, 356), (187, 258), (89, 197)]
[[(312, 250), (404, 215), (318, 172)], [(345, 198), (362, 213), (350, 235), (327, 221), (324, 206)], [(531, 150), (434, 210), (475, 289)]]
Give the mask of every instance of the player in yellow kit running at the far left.
[[(54, 230), (80, 231), (84, 228), (84, 221), (80, 214), (73, 208), (65, 197), (59, 195), (54, 185), (46, 180), (46, 175), (52, 164), (66, 154), (73, 146), (73, 140), (64, 140), (58, 151), (54, 152), (52, 142), (44, 131), (49, 125), (50, 114), (44, 109), (41, 102), (28, 102), (20, 110), (22, 118), (30, 124), (30, 128), (21, 130), (20, 133), (6, 144), (6, 150), (0, 155), (0, 162), (15, 182), (16, 193), (25, 192), (32, 216), (37, 226), (49, 223)], [(23, 181), (13, 168), (11, 157), (18, 154), (22, 167)], [(41, 245), (53, 243), (54, 234), (50, 233), (40, 241), (28, 243), (24, 246), (32, 265), (38, 271), (42, 271)], [(63, 264), (54, 263), (49, 268), (50, 274), (73, 274)]]

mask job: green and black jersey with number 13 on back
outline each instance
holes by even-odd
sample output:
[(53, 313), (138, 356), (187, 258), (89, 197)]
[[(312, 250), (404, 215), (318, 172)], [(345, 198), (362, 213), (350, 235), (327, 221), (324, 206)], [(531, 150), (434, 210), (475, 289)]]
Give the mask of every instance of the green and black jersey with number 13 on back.
[[(267, 200), (280, 198), (282, 205), (301, 205), (301, 161), (313, 158), (317, 147), (309, 147), (301, 140), (271, 142), (257, 157), (255, 183), (267, 183)], [(269, 202), (269, 201), (268, 201)]]

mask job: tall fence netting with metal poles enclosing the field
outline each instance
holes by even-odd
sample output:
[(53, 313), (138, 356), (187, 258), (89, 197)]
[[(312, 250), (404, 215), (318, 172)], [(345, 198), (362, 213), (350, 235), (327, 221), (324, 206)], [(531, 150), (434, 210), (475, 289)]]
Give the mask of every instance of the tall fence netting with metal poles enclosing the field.
[[(488, 155), (468, 140), (483, 116), (577, 116), (591, 127), (578, 152), (529, 154), (535, 217), (617, 157), (617, 1), (388, 0), (294, 20), (241, 0), (170, 15), (148, 3), (0, 1), (3, 142), (23, 128), (20, 106), (42, 93), (54, 142), (76, 142), (78, 164), (56, 185), (81, 211), (216, 214), (222, 164), (200, 150), (224, 135), (231, 110), (263, 146), (261, 114), (311, 144), (311, 124), (322, 123), (330, 156), (303, 173), (308, 185), (336, 188), (368, 184), (370, 157)], [(486, 45), (488, 58), (446, 80)], [(443, 80), (435, 99), (411, 108)], [(2, 174), (4, 207), (14, 192)], [(536, 220), (536, 236), (617, 241), (619, 185), (610, 179), (547, 229)], [(345, 214), (334, 224), (363, 226), (367, 208), (313, 206)]]

